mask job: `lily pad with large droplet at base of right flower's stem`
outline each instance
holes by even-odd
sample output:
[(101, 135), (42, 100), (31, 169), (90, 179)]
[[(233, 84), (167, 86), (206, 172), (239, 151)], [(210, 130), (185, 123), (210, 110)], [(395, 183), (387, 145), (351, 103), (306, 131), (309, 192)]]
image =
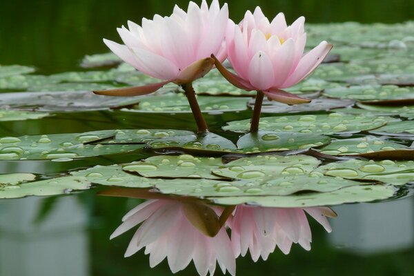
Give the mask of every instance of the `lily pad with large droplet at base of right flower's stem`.
[(300, 150), (329, 144), (331, 138), (308, 133), (273, 132), (260, 130), (247, 133), (237, 141), (237, 152), (256, 153)]

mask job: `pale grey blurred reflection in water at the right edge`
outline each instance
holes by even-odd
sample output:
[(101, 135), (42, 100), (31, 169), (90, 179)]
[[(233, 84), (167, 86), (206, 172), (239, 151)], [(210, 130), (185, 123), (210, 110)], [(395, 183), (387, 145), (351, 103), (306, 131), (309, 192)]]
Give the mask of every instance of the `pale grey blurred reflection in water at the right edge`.
[(414, 198), (377, 204), (335, 206), (331, 243), (343, 250), (369, 255), (404, 250), (414, 244)]

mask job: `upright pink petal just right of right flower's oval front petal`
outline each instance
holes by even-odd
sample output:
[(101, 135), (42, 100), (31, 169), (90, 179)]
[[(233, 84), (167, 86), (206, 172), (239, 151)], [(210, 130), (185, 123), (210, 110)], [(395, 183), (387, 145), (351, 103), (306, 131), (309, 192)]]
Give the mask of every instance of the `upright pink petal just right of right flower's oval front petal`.
[(273, 70), (275, 74), (275, 82), (273, 88), (278, 88), (288, 78), (295, 59), (295, 42), (288, 39), (276, 51), (273, 57)]

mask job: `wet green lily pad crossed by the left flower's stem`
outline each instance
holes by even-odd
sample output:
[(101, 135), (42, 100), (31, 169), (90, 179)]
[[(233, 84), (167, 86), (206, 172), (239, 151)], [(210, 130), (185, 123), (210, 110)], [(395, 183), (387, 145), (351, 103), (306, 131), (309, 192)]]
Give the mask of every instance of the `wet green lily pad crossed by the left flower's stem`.
[[(246, 97), (209, 97), (198, 96), (197, 101), (201, 112), (225, 112), (240, 111), (247, 109), (247, 102), (250, 98)], [(174, 112), (190, 113), (190, 105), (184, 93), (170, 92), (164, 95), (149, 96), (133, 109), (121, 109), (122, 111), (132, 112)]]

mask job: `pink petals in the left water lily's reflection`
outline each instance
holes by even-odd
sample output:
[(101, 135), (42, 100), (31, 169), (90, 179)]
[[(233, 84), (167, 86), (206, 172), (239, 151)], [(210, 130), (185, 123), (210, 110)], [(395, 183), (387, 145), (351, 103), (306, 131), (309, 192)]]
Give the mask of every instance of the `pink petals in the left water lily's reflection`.
[(151, 267), (167, 258), (172, 273), (176, 273), (193, 259), (199, 275), (213, 275), (217, 260), (224, 273), (227, 269), (235, 275), (235, 255), (226, 229), (221, 228), (215, 237), (207, 237), (191, 224), (185, 208), (185, 203), (176, 200), (146, 201), (124, 216), (123, 224), (111, 239), (142, 223), (132, 237), (126, 257), (146, 247)]

